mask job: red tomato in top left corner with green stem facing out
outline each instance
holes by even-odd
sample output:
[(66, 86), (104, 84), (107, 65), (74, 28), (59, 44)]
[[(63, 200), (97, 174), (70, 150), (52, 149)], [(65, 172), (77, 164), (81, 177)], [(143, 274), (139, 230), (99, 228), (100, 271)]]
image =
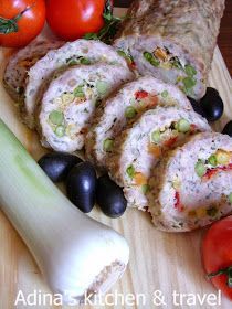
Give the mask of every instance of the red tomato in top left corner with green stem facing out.
[[(14, 21), (18, 29), (11, 29), (11, 33), (4, 34), (3, 32), (7, 29), (9, 30), (9, 24), (12, 21)], [(41, 32), (44, 22), (44, 0), (1, 0), (0, 45), (7, 47), (22, 47), (27, 45)]]

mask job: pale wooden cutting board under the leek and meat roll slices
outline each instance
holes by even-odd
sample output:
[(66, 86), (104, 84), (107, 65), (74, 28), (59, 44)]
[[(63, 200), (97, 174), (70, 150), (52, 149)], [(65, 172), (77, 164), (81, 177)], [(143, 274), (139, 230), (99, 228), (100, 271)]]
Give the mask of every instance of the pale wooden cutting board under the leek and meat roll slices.
[[(118, 12), (124, 14), (125, 10)], [(10, 50), (0, 49), (0, 78), (2, 78), (7, 60), (11, 53)], [(214, 126), (214, 129), (220, 131), (226, 121), (232, 119), (232, 82), (218, 47), (209, 84), (220, 92), (225, 104), (224, 115)], [(46, 150), (39, 143), (38, 135), (19, 121), (17, 108), (1, 83), (0, 117), (35, 160), (45, 153)], [(6, 174), (6, 177), (8, 175)], [(152, 227), (148, 214), (136, 210), (128, 210), (123, 217), (117, 220), (106, 217), (98, 210), (94, 210), (91, 215), (122, 233), (130, 246), (130, 262), (127, 271), (112, 290), (114, 296), (108, 295), (108, 306), (94, 306), (94, 308), (231, 308), (231, 303), (223, 297), (221, 305), (210, 306), (204, 299), (203, 305), (197, 300), (196, 306), (192, 307), (189, 307), (186, 301), (182, 306), (175, 307), (172, 297), (175, 291), (193, 294), (196, 297), (199, 295), (201, 299), (209, 294), (218, 294), (205, 280), (201, 265), (200, 245), (205, 231), (184, 234), (161, 233)], [(38, 292), (38, 299), (40, 295), (50, 292), (28, 248), (4, 214), (0, 212), (0, 309), (66, 308), (50, 306), (49, 302), (44, 306), (30, 306), (23, 305), (22, 301), (14, 307), (19, 291), (27, 297), (34, 290)], [(164, 299), (159, 301), (159, 298), (155, 298), (154, 302), (154, 292), (159, 296), (159, 291)], [(123, 297), (119, 294), (123, 294)], [(110, 306), (113, 298), (115, 306)], [(177, 297), (177, 301), (179, 300)], [(218, 298), (218, 302), (220, 302), (220, 298)], [(85, 306), (84, 308), (93, 307)]]

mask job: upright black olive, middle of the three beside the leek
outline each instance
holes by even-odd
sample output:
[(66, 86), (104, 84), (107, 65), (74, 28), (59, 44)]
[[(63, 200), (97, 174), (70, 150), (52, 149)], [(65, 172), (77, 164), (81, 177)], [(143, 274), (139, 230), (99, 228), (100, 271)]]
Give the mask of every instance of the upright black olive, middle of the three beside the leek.
[(82, 212), (88, 213), (95, 204), (96, 184), (94, 167), (88, 162), (78, 163), (67, 175), (67, 196)]

